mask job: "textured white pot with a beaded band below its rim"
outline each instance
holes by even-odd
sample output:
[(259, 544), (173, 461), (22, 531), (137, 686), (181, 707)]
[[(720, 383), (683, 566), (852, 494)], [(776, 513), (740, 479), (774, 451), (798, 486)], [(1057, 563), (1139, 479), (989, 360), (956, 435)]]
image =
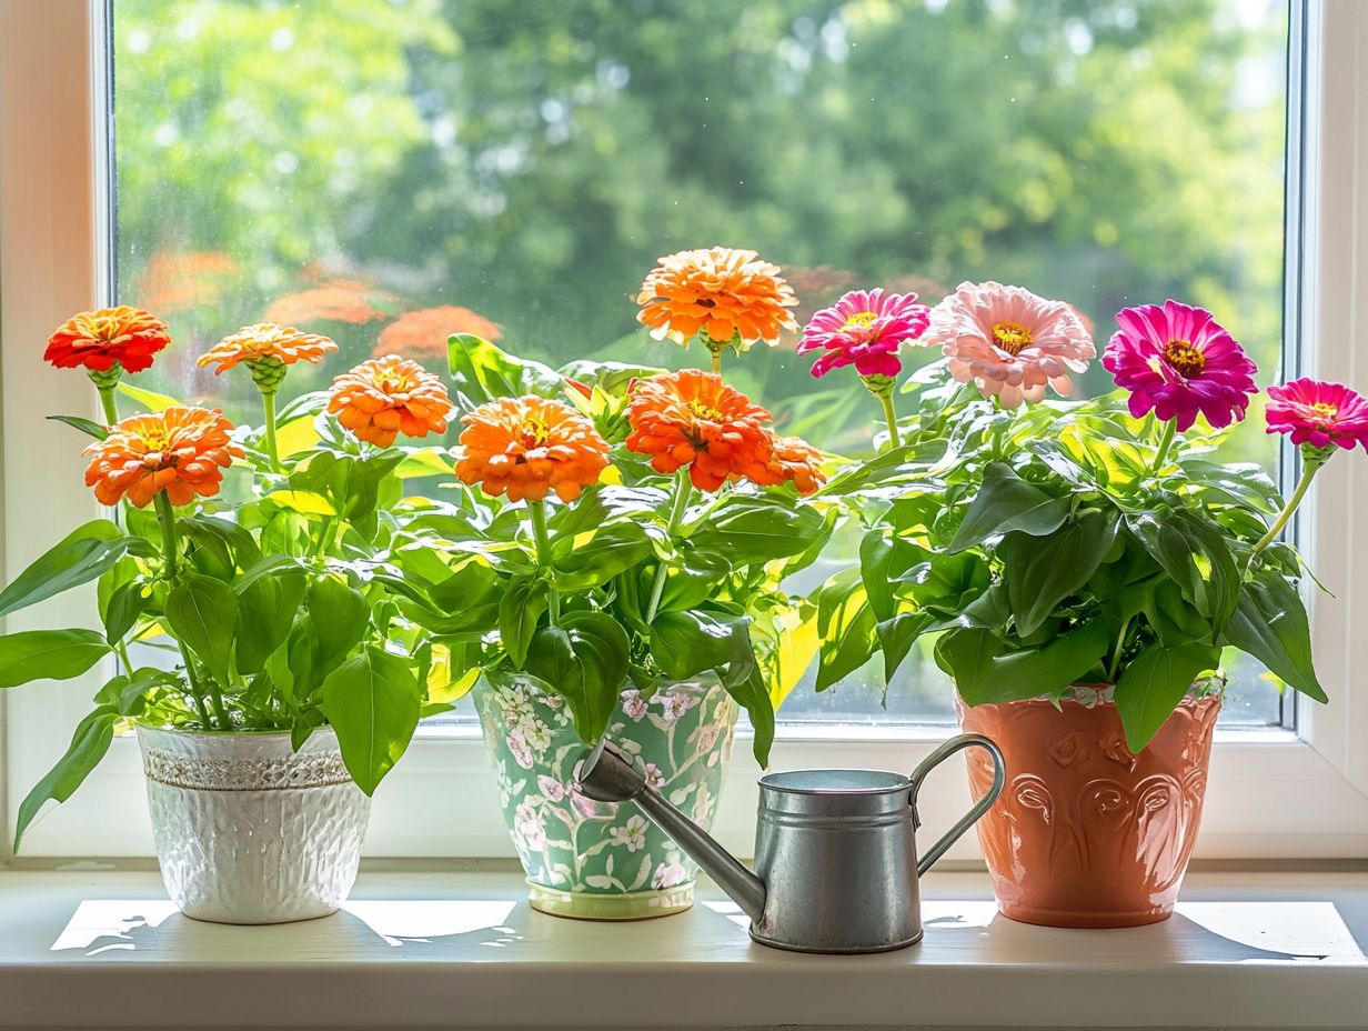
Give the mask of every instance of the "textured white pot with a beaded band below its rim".
[(278, 924), (337, 912), (356, 880), (371, 800), (337, 734), (138, 727), (161, 879), (186, 916)]

